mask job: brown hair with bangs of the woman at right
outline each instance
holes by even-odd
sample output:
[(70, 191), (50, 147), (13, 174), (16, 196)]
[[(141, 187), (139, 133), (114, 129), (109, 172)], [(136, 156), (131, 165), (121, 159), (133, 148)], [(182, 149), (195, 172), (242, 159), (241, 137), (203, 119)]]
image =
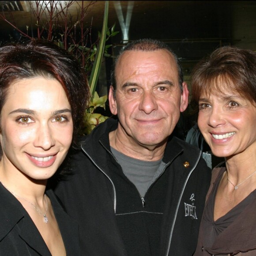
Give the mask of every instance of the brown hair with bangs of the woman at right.
[(191, 74), (193, 104), (197, 105), (202, 93), (220, 90), (218, 79), (228, 84), (230, 90), (256, 103), (256, 53), (223, 46), (196, 64)]

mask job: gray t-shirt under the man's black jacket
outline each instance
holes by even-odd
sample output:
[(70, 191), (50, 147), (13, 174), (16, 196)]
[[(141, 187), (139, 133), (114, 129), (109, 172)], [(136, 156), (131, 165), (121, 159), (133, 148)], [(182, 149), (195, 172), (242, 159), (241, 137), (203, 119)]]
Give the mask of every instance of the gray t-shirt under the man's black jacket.
[(148, 188), (162, 174), (166, 164), (158, 161), (142, 161), (128, 157), (111, 147), (117, 162), (123, 169), (124, 175), (136, 186), (141, 197), (145, 196)]

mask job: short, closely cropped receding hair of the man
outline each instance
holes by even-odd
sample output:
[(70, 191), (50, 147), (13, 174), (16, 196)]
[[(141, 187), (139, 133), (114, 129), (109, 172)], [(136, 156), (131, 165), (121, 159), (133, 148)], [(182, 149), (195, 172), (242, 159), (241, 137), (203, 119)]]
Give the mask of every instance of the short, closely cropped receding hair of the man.
[(116, 60), (113, 63), (112, 72), (111, 72), (111, 85), (113, 86), (114, 90), (116, 90), (116, 87), (117, 87), (116, 74), (115, 74), (116, 65), (122, 53), (126, 51), (153, 52), (156, 50), (163, 50), (163, 49), (169, 51), (174, 57), (174, 60), (177, 64), (179, 85), (182, 92), (183, 91), (182, 83), (184, 82), (184, 78), (183, 78), (183, 71), (182, 71), (181, 62), (179, 58), (175, 53), (173, 53), (173, 50), (166, 43), (162, 41), (154, 40), (154, 39), (147, 39), (147, 38), (131, 41), (120, 50)]

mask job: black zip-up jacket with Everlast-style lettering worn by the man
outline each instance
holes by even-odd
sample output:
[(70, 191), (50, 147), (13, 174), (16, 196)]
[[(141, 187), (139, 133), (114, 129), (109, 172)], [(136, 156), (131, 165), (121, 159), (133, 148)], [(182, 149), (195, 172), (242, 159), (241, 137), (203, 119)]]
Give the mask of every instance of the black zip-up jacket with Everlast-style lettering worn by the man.
[(79, 222), (81, 255), (191, 256), (211, 180), (200, 150), (170, 136), (166, 168), (141, 199), (110, 150), (117, 124), (94, 128), (55, 190)]

